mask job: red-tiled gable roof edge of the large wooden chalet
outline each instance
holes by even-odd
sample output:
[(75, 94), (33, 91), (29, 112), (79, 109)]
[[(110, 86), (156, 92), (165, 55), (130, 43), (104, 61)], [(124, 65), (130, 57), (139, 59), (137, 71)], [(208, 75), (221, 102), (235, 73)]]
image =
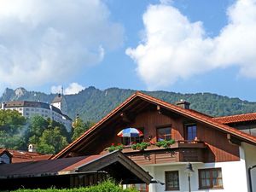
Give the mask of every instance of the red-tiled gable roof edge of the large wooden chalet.
[(122, 108), (129, 105), (133, 100), (135, 100), (137, 97), (140, 99), (143, 99), (146, 102), (154, 103), (156, 105), (159, 105), (161, 108), (166, 108), (169, 111), (172, 111), (174, 113), (181, 114), (185, 117), (188, 117), (190, 119), (195, 119), (201, 123), (207, 124), (212, 126), (215, 129), (218, 129), (219, 131), (224, 131), (226, 133), (230, 133), (234, 135), (235, 137), (240, 138), (243, 141), (247, 141), (248, 143), (256, 144), (256, 137), (253, 137), (245, 132), (236, 130), (233, 127), (230, 127), (228, 125), (224, 125), (220, 123), (218, 120), (212, 119), (212, 117), (196, 112), (195, 110), (191, 109), (184, 109), (177, 107), (176, 105), (173, 105), (168, 102), (164, 102), (158, 98), (155, 98), (153, 96), (148, 96), (140, 91), (137, 91), (135, 94), (131, 95), (128, 99), (125, 100), (125, 102), (121, 103), (119, 107), (113, 109), (112, 112), (108, 113), (103, 119), (101, 119), (96, 125), (92, 126), (88, 131), (85, 131), (84, 134), (76, 139), (73, 143), (70, 143), (66, 148), (61, 150), (59, 154), (56, 154), (53, 159), (60, 158), (62, 155), (67, 154), (68, 151), (70, 151), (72, 148), (74, 148), (77, 144), (79, 144), (84, 137), (87, 137), (91, 132), (95, 131), (100, 125), (102, 125), (104, 122), (106, 122), (108, 119), (111, 119), (114, 115), (116, 115), (119, 111), (121, 111)]

